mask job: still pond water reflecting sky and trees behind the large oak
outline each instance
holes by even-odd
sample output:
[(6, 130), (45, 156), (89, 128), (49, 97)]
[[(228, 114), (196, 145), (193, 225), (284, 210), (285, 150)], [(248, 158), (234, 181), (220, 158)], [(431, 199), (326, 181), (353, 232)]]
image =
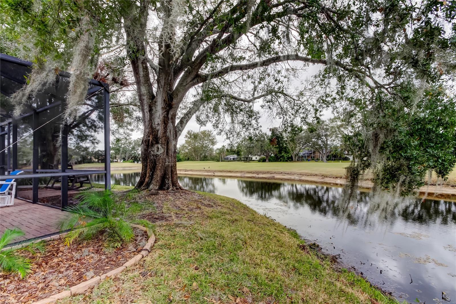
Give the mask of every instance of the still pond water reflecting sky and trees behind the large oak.
[[(138, 178), (139, 173), (113, 174), (112, 182), (134, 185)], [(338, 203), (340, 188), (185, 176), (179, 182), (238, 199), (295, 229), (399, 300), (456, 303), (455, 202), (413, 199), (372, 210), (378, 203), (359, 193), (346, 210)]]

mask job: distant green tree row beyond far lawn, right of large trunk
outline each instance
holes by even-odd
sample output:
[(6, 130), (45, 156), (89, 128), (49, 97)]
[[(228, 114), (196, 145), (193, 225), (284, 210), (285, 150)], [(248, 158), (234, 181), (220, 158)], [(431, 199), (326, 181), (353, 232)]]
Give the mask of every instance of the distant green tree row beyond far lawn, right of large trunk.
[[(309, 159), (348, 160), (343, 144), (344, 126), (337, 118), (299, 126), (274, 127), (269, 133), (259, 131), (214, 149), (217, 139), (212, 131), (187, 131), (185, 142), (178, 147), (177, 161), (223, 161), (228, 155), (237, 160), (259, 162), (298, 161), (303, 150), (315, 151)], [(255, 158), (256, 158), (255, 157)], [(307, 157), (306, 157), (307, 158)]]

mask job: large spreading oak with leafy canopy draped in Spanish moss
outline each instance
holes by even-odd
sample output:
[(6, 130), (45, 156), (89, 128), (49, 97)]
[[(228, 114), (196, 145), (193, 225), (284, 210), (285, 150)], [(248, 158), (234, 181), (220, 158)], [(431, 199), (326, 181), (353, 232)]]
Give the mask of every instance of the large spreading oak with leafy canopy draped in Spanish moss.
[[(38, 70), (72, 67), (75, 79), (81, 64), (107, 61), (113, 84), (133, 76), (144, 129), (138, 189), (181, 189), (176, 144), (195, 114), (218, 129), (245, 128), (258, 118), (255, 101), (284, 123), (342, 102), (363, 124), (363, 141), (381, 146), (394, 130), (372, 136), (385, 123), (378, 117), (401, 121), (399, 130), (430, 89), (443, 92), (436, 102), (451, 99), (452, 1), (5, 0), (1, 9), (2, 52), (33, 57)], [(297, 82), (309, 65), (322, 67), (317, 96)], [(384, 100), (394, 102), (383, 108)], [(452, 124), (445, 130), (454, 133)], [(436, 171), (454, 163), (447, 157)]]

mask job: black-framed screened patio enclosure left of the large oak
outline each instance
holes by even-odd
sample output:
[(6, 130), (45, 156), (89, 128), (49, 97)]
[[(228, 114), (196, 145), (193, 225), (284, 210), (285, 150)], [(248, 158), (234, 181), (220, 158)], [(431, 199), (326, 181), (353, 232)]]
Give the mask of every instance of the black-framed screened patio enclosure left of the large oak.
[(68, 109), (71, 74), (56, 71), (54, 81), (18, 108), (11, 96), (26, 84), (32, 63), (5, 54), (0, 60), (0, 180), (22, 171), (15, 176), (16, 198), (58, 209), (81, 190), (103, 189), (94, 174), (105, 174), (109, 188), (108, 85), (88, 79), (85, 99)]

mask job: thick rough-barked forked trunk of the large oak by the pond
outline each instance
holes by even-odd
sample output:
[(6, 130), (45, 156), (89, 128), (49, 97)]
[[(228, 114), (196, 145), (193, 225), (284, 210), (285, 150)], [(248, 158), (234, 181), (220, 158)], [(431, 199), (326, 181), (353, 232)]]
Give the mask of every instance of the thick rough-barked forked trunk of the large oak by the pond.
[[(156, 74), (156, 94), (152, 87), (149, 63), (144, 45), (148, 1), (140, 1), (136, 15), (124, 16), (127, 56), (135, 77), (143, 118), (141, 141), (141, 175), (136, 189), (181, 190), (177, 179), (176, 113), (180, 100), (174, 100), (173, 67), (170, 55), (160, 56), (160, 71)], [(136, 17), (137, 16), (137, 17)], [(179, 97), (183, 98), (183, 97)]]

